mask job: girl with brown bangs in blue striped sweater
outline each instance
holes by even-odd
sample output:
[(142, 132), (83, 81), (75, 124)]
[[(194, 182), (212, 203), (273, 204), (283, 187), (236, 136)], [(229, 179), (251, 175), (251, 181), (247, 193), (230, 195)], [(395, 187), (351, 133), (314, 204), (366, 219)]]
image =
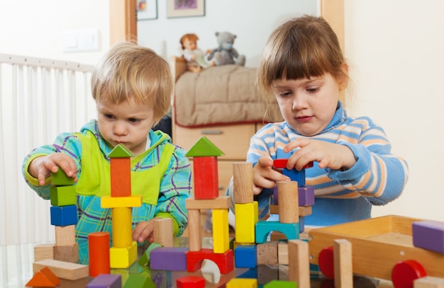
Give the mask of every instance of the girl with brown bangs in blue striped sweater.
[(323, 18), (303, 16), (274, 30), (258, 75), (260, 90), (270, 103), (277, 100), (284, 118), (260, 129), (248, 150), (260, 219), (269, 214), (276, 182), (290, 180), (273, 169), (273, 159), (289, 159), (287, 168), (297, 170), (314, 161), (306, 169), (306, 185), (314, 186), (316, 195), (307, 226), (367, 219), (372, 205), (399, 197), (407, 163), (391, 154), (381, 127), (345, 112), (339, 95), (348, 86), (348, 64)]

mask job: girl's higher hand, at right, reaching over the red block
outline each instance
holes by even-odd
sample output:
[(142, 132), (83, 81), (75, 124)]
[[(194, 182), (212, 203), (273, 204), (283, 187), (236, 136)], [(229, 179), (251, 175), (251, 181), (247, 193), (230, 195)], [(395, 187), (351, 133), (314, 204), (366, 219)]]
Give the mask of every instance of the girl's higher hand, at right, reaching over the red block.
[(288, 169), (301, 170), (307, 163), (317, 161), (319, 168), (348, 170), (356, 163), (355, 155), (348, 146), (299, 138), (284, 146), (284, 152), (288, 153), (296, 148), (299, 149), (288, 159)]

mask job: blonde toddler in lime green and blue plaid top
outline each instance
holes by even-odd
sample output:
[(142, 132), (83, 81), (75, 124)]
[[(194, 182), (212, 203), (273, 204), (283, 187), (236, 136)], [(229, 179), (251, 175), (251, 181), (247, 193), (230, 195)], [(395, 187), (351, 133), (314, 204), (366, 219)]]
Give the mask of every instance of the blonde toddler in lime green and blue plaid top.
[(170, 65), (148, 48), (121, 42), (94, 69), (91, 88), (98, 119), (80, 132), (60, 134), (54, 144), (34, 149), (23, 161), (26, 183), (44, 199), (50, 197), (50, 173), (57, 166), (78, 179), (75, 233), (81, 263), (88, 260), (89, 233), (112, 233), (111, 209), (101, 208), (100, 197), (111, 193), (106, 155), (117, 144), (133, 152), (131, 192), (143, 196), (142, 207), (132, 209), (134, 241), (153, 240), (155, 217), (172, 218), (174, 235), (182, 235), (188, 222), (185, 200), (192, 192), (185, 151), (171, 144), (167, 134), (151, 129), (170, 108)]

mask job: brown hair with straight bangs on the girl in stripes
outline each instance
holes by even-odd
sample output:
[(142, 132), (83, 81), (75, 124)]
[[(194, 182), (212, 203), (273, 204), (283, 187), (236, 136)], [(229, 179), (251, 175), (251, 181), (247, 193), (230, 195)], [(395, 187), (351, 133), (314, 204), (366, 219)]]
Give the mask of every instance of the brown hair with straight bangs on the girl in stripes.
[(345, 59), (338, 37), (321, 17), (302, 16), (280, 25), (268, 38), (258, 69), (258, 86), (272, 93), (274, 80), (306, 79), (330, 73), (345, 76)]

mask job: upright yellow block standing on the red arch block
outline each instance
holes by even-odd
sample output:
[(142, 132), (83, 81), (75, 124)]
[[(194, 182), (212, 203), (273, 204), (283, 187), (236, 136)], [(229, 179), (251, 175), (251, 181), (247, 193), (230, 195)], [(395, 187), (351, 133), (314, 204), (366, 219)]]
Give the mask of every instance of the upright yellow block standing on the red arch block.
[(229, 249), (228, 209), (213, 209), (213, 252), (225, 253)]

